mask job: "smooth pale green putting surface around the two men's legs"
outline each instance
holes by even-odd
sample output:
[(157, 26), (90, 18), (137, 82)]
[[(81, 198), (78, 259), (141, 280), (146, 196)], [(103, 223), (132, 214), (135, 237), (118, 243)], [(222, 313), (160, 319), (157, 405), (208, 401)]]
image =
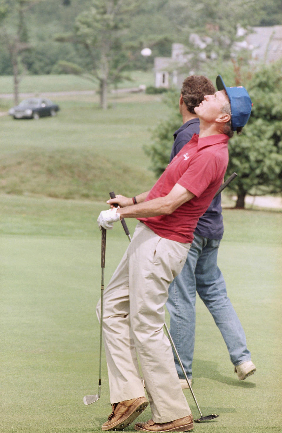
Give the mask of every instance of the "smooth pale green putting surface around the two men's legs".
[[(105, 355), (98, 392), (100, 202), (0, 196), (0, 431), (100, 431), (111, 411)], [(193, 389), (213, 422), (195, 432), (281, 432), (282, 213), (224, 210), (219, 265), (257, 372), (239, 382), (212, 317), (197, 300)], [(128, 220), (133, 233), (135, 221)], [(126, 249), (107, 233), (105, 283)], [(185, 390), (194, 417), (199, 414)], [(150, 418), (149, 408), (139, 420)], [(126, 429), (134, 430), (134, 424)]]

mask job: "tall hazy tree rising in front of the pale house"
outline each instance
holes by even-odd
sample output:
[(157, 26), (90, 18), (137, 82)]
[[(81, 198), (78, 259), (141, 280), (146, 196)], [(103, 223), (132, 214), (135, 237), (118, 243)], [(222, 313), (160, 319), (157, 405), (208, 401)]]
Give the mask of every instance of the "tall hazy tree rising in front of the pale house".
[[(229, 61), (238, 36), (238, 23), (249, 23), (251, 5), (240, 0), (174, 0), (170, 2), (171, 23), (178, 32), (177, 42), (186, 48), (187, 61), (181, 71), (210, 71), (215, 63)], [(182, 60), (183, 61), (183, 60)], [(209, 73), (209, 72), (207, 72)]]

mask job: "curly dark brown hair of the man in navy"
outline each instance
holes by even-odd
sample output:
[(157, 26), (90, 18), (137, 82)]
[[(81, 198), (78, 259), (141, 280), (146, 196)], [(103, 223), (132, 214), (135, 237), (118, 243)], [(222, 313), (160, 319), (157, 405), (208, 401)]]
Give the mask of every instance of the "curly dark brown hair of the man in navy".
[(181, 87), (181, 95), (187, 110), (195, 114), (194, 108), (204, 99), (205, 95), (213, 95), (215, 87), (209, 78), (203, 75), (190, 75), (185, 78)]

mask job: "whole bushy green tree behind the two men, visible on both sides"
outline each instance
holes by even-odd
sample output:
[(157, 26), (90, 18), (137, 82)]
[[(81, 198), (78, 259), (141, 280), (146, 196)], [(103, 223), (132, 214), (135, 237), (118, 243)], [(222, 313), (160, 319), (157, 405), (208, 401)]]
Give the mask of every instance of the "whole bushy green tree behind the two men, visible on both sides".
[[(282, 191), (282, 72), (281, 62), (261, 66), (244, 73), (235, 66), (235, 82), (244, 83), (253, 102), (250, 119), (241, 135), (229, 140), (229, 163), (226, 175), (238, 174), (229, 189), (237, 194), (236, 208), (244, 208), (246, 194), (280, 194)], [(241, 74), (241, 75), (240, 75)], [(153, 132), (153, 144), (145, 148), (157, 176), (169, 162), (173, 132), (182, 124), (177, 113), (179, 94), (167, 97), (172, 116), (163, 120)]]

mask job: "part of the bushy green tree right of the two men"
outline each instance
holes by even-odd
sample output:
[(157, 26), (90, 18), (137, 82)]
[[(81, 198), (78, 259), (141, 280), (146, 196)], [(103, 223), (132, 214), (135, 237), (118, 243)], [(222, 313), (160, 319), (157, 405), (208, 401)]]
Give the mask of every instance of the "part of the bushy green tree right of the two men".
[[(246, 194), (280, 194), (282, 191), (282, 63), (263, 66), (245, 85), (253, 102), (247, 125), (229, 144), (227, 174), (237, 194), (235, 207), (244, 208)], [(243, 82), (243, 81), (242, 81)], [(238, 83), (237, 83), (238, 84)]]

